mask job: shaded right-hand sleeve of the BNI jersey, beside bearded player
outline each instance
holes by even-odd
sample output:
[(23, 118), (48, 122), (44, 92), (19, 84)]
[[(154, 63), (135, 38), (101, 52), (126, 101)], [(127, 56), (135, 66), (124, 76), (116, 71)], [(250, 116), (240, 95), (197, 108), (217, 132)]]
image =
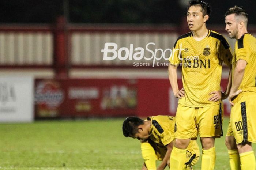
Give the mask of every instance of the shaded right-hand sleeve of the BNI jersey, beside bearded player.
[(231, 68), (232, 67), (232, 52), (231, 52), (231, 48), (228, 44), (228, 42), (226, 41), (226, 39), (223, 37), (223, 42), (220, 45), (219, 48), (219, 57), (221, 58), (221, 60), (224, 61), (224, 63)]

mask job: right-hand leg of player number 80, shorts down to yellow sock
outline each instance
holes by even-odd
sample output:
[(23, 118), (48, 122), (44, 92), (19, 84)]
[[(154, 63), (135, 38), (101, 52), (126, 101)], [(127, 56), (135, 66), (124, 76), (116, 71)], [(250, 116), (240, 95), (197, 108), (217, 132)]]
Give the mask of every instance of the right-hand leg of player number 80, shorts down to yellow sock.
[(233, 101), (231, 108), (231, 126), (240, 156), (241, 170), (256, 169), (252, 142), (256, 142), (256, 93), (242, 92)]

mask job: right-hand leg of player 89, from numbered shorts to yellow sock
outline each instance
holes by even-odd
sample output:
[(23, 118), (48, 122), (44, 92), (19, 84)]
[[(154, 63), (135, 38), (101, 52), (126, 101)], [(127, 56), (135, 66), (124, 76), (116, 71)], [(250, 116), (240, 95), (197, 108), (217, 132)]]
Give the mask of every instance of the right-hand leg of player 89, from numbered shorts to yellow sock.
[(216, 160), (214, 147), (215, 137), (223, 135), (223, 105), (199, 108), (196, 121), (199, 125), (199, 135), (202, 144), (202, 170), (213, 170)]

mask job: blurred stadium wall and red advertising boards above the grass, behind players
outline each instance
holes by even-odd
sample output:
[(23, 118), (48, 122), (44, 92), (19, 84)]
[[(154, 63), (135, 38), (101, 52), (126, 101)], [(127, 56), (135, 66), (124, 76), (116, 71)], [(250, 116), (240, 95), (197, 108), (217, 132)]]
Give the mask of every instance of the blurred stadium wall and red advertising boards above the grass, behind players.
[[(174, 115), (177, 99), (168, 81), (168, 61), (158, 49), (166, 49), (168, 58), (176, 39), (189, 32), (188, 2), (1, 0), (0, 121)], [(235, 41), (225, 31), (229, 7), (248, 12), (248, 31), (256, 35), (255, 1), (206, 2), (212, 8), (208, 29), (223, 34), (232, 49)], [(103, 60), (109, 42), (117, 45), (118, 57)], [(153, 43), (151, 51), (148, 43)], [(145, 57), (154, 57), (135, 60), (137, 47), (145, 49)], [(223, 91), (227, 76), (224, 67)], [(229, 110), (225, 101), (227, 116)]]

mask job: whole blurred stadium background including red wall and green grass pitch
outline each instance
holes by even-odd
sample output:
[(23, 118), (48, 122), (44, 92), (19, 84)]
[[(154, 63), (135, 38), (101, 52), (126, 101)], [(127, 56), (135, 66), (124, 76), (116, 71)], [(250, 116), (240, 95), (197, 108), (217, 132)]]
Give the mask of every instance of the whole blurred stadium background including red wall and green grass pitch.
[[(232, 49), (235, 41), (227, 37), (223, 16), (227, 8), (244, 7), (249, 33), (256, 35), (255, 1), (207, 2), (213, 10), (208, 29), (222, 33)], [(177, 37), (189, 31), (187, 3), (2, 0), (0, 169), (139, 169), (138, 141), (122, 136), (121, 123), (126, 116), (175, 114), (167, 67), (159, 66), (167, 61), (155, 60), (153, 67), (153, 59), (103, 60), (101, 50), (106, 42), (116, 43), (117, 50), (133, 44), (133, 54), (150, 42), (153, 51), (172, 49)], [(145, 51), (144, 56), (151, 55)], [(225, 67), (222, 90), (227, 76)], [(224, 103), (226, 126), (230, 107)], [(223, 139), (218, 144), (224, 162), (217, 167), (228, 169)]]

